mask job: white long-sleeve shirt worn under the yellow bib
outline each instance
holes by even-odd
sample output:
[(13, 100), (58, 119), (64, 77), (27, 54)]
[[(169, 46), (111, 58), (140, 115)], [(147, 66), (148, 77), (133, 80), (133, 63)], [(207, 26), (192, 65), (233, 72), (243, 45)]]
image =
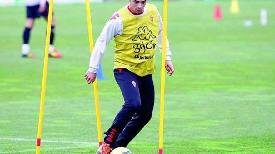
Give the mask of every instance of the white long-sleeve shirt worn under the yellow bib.
[[(127, 7), (127, 10), (128, 10), (128, 5), (126, 5), (125, 7)], [(147, 13), (147, 7), (145, 6), (142, 14), (140, 15), (134, 15), (132, 13), (131, 14), (133, 16), (140, 17), (140, 16), (144, 16), (146, 13)], [(159, 15), (159, 33), (158, 33), (157, 46), (160, 49), (160, 52), (162, 52), (163, 21), (159, 12), (158, 12), (158, 15)], [(123, 21), (121, 17), (113, 16), (111, 19), (106, 23), (100, 36), (98, 37), (95, 43), (93, 53), (91, 54), (91, 57), (90, 57), (89, 72), (93, 72), (93, 73), (97, 72), (99, 63), (101, 62), (103, 55), (105, 53), (106, 45), (112, 40), (113, 37), (122, 35), (123, 33)], [(171, 55), (172, 54), (169, 47), (169, 41), (168, 41), (168, 38), (166, 37), (166, 58), (165, 59), (171, 60)]]

